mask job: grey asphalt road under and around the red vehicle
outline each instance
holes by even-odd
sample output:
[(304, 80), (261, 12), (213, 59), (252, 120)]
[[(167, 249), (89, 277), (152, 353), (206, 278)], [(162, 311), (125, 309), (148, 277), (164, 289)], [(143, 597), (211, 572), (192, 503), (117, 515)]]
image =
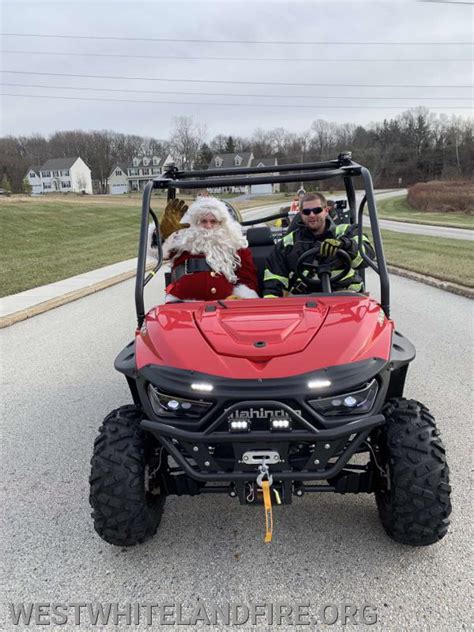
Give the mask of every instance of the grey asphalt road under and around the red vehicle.
[[(159, 286), (148, 289), (149, 301), (160, 296)], [(398, 545), (382, 530), (373, 497), (332, 494), (276, 509), (271, 545), (262, 541), (261, 508), (218, 495), (168, 499), (157, 536), (144, 545), (100, 540), (89, 516), (89, 460), (101, 419), (130, 401), (113, 369), (135, 325), (127, 281), (1, 331), (4, 604), (179, 602), (194, 611), (200, 603), (283, 602), (309, 603), (317, 616), (322, 604), (339, 612), (370, 604), (378, 622), (354, 629), (468, 629), (472, 303), (400, 277), (392, 277), (392, 297), (398, 327), (418, 350), (407, 395), (438, 418), (451, 464), (454, 513), (442, 542)], [(19, 629), (5, 606), (0, 627)]]

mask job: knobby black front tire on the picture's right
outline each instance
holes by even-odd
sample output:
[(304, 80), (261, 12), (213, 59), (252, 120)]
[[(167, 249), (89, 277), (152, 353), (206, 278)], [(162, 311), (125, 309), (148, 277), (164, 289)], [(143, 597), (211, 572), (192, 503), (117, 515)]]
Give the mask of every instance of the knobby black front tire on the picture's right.
[(451, 513), (449, 468), (435, 420), (426, 406), (403, 398), (390, 400), (383, 412), (387, 423), (374, 442), (382, 524), (402, 544), (434, 544), (446, 535)]

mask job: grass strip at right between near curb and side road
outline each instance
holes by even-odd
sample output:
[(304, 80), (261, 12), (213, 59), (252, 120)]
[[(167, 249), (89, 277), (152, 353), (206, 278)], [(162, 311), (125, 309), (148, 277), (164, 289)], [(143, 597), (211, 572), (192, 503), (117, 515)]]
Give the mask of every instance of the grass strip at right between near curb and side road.
[(472, 241), (382, 231), (387, 262), (420, 274), (474, 287)]

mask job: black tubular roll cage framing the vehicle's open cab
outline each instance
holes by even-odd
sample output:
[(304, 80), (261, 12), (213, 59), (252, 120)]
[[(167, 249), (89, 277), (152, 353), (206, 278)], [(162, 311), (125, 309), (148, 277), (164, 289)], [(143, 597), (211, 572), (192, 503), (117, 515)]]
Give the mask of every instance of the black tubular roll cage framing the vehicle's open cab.
[[(241, 186), (252, 184), (273, 184), (278, 182), (310, 182), (315, 180), (328, 180), (339, 177), (344, 183), (347, 200), (350, 209), (350, 221), (358, 226), (359, 254), (366, 264), (372, 268), (380, 279), (380, 304), (387, 317), (390, 316), (390, 283), (387, 266), (383, 252), (382, 236), (377, 217), (372, 177), (369, 170), (352, 160), (350, 152), (341, 153), (336, 160), (325, 162), (306, 162), (287, 165), (273, 165), (268, 167), (236, 167), (232, 169), (205, 169), (197, 171), (181, 171), (171, 165), (160, 177), (149, 182), (142, 199), (142, 215), (140, 226), (140, 239), (138, 247), (137, 276), (135, 282), (135, 307), (138, 326), (141, 327), (145, 319), (144, 288), (155, 276), (163, 264), (163, 252), (161, 248), (160, 226), (158, 218), (151, 208), (151, 197), (154, 189), (167, 191), (168, 200), (176, 197), (176, 189), (202, 189), (208, 187)], [(357, 209), (356, 189), (353, 179), (361, 177), (364, 185), (364, 197)], [(362, 217), (365, 205), (368, 207), (370, 228), (376, 261), (372, 261), (361, 248), (362, 244)], [(148, 240), (149, 217), (152, 217), (157, 235), (158, 261), (153, 270), (146, 272), (146, 253)], [(258, 219), (245, 220), (242, 226), (252, 226), (262, 222), (287, 217), (288, 213), (274, 213)]]

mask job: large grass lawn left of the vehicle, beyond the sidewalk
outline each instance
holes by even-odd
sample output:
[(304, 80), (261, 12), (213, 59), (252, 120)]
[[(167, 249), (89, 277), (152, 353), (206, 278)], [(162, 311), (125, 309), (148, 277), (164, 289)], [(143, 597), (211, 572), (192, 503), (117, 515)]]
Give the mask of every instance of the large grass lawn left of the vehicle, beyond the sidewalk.
[(2, 204), (0, 295), (135, 257), (139, 223), (137, 204)]

